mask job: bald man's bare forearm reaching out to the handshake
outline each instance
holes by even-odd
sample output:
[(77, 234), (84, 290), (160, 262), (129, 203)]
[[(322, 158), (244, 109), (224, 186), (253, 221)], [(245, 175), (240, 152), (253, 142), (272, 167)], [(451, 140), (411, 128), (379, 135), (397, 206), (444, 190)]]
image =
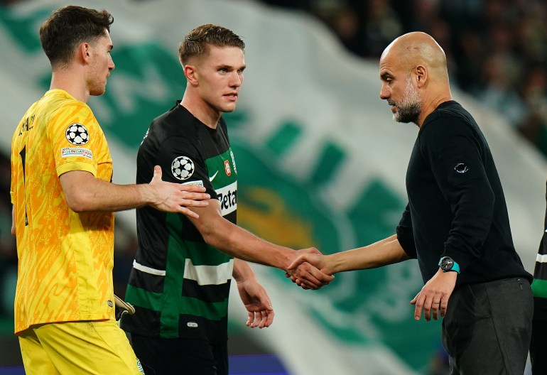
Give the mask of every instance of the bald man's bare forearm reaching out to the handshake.
[(341, 251), (325, 256), (332, 273), (378, 268), (410, 259), (397, 240), (396, 234), (369, 246)]

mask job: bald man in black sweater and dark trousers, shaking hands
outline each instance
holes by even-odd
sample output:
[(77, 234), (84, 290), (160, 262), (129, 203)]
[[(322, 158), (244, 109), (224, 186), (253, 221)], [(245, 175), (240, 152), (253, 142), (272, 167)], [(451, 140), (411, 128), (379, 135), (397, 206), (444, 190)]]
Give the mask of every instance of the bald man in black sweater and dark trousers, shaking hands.
[(426, 33), (394, 40), (380, 58), (380, 97), (398, 122), (418, 125), (396, 234), (303, 261), (332, 274), (418, 259), (425, 285), (414, 317), (443, 319), (451, 375), (522, 375), (533, 314), (531, 275), (516, 254), (492, 153), (452, 99), (443, 49)]

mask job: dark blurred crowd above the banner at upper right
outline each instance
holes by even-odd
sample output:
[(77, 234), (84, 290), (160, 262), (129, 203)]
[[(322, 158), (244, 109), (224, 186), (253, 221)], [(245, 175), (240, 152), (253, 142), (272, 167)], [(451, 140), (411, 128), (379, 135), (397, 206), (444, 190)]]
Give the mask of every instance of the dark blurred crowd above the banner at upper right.
[(424, 31), (443, 47), (453, 85), (507, 119), (547, 156), (547, 1), (261, 0), (313, 14), (362, 58)]

